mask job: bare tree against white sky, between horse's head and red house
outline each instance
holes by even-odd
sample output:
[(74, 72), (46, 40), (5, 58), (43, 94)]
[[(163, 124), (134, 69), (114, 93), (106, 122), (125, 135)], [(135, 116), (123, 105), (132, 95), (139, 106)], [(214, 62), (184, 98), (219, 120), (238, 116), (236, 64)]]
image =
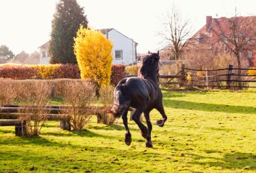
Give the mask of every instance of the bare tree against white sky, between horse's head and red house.
[(160, 36), (164, 38), (166, 49), (169, 50), (169, 59), (179, 60), (181, 52), (189, 47), (191, 42), (186, 42), (191, 36), (191, 21), (183, 18), (177, 7), (172, 5), (172, 10), (162, 19), (164, 31)]

